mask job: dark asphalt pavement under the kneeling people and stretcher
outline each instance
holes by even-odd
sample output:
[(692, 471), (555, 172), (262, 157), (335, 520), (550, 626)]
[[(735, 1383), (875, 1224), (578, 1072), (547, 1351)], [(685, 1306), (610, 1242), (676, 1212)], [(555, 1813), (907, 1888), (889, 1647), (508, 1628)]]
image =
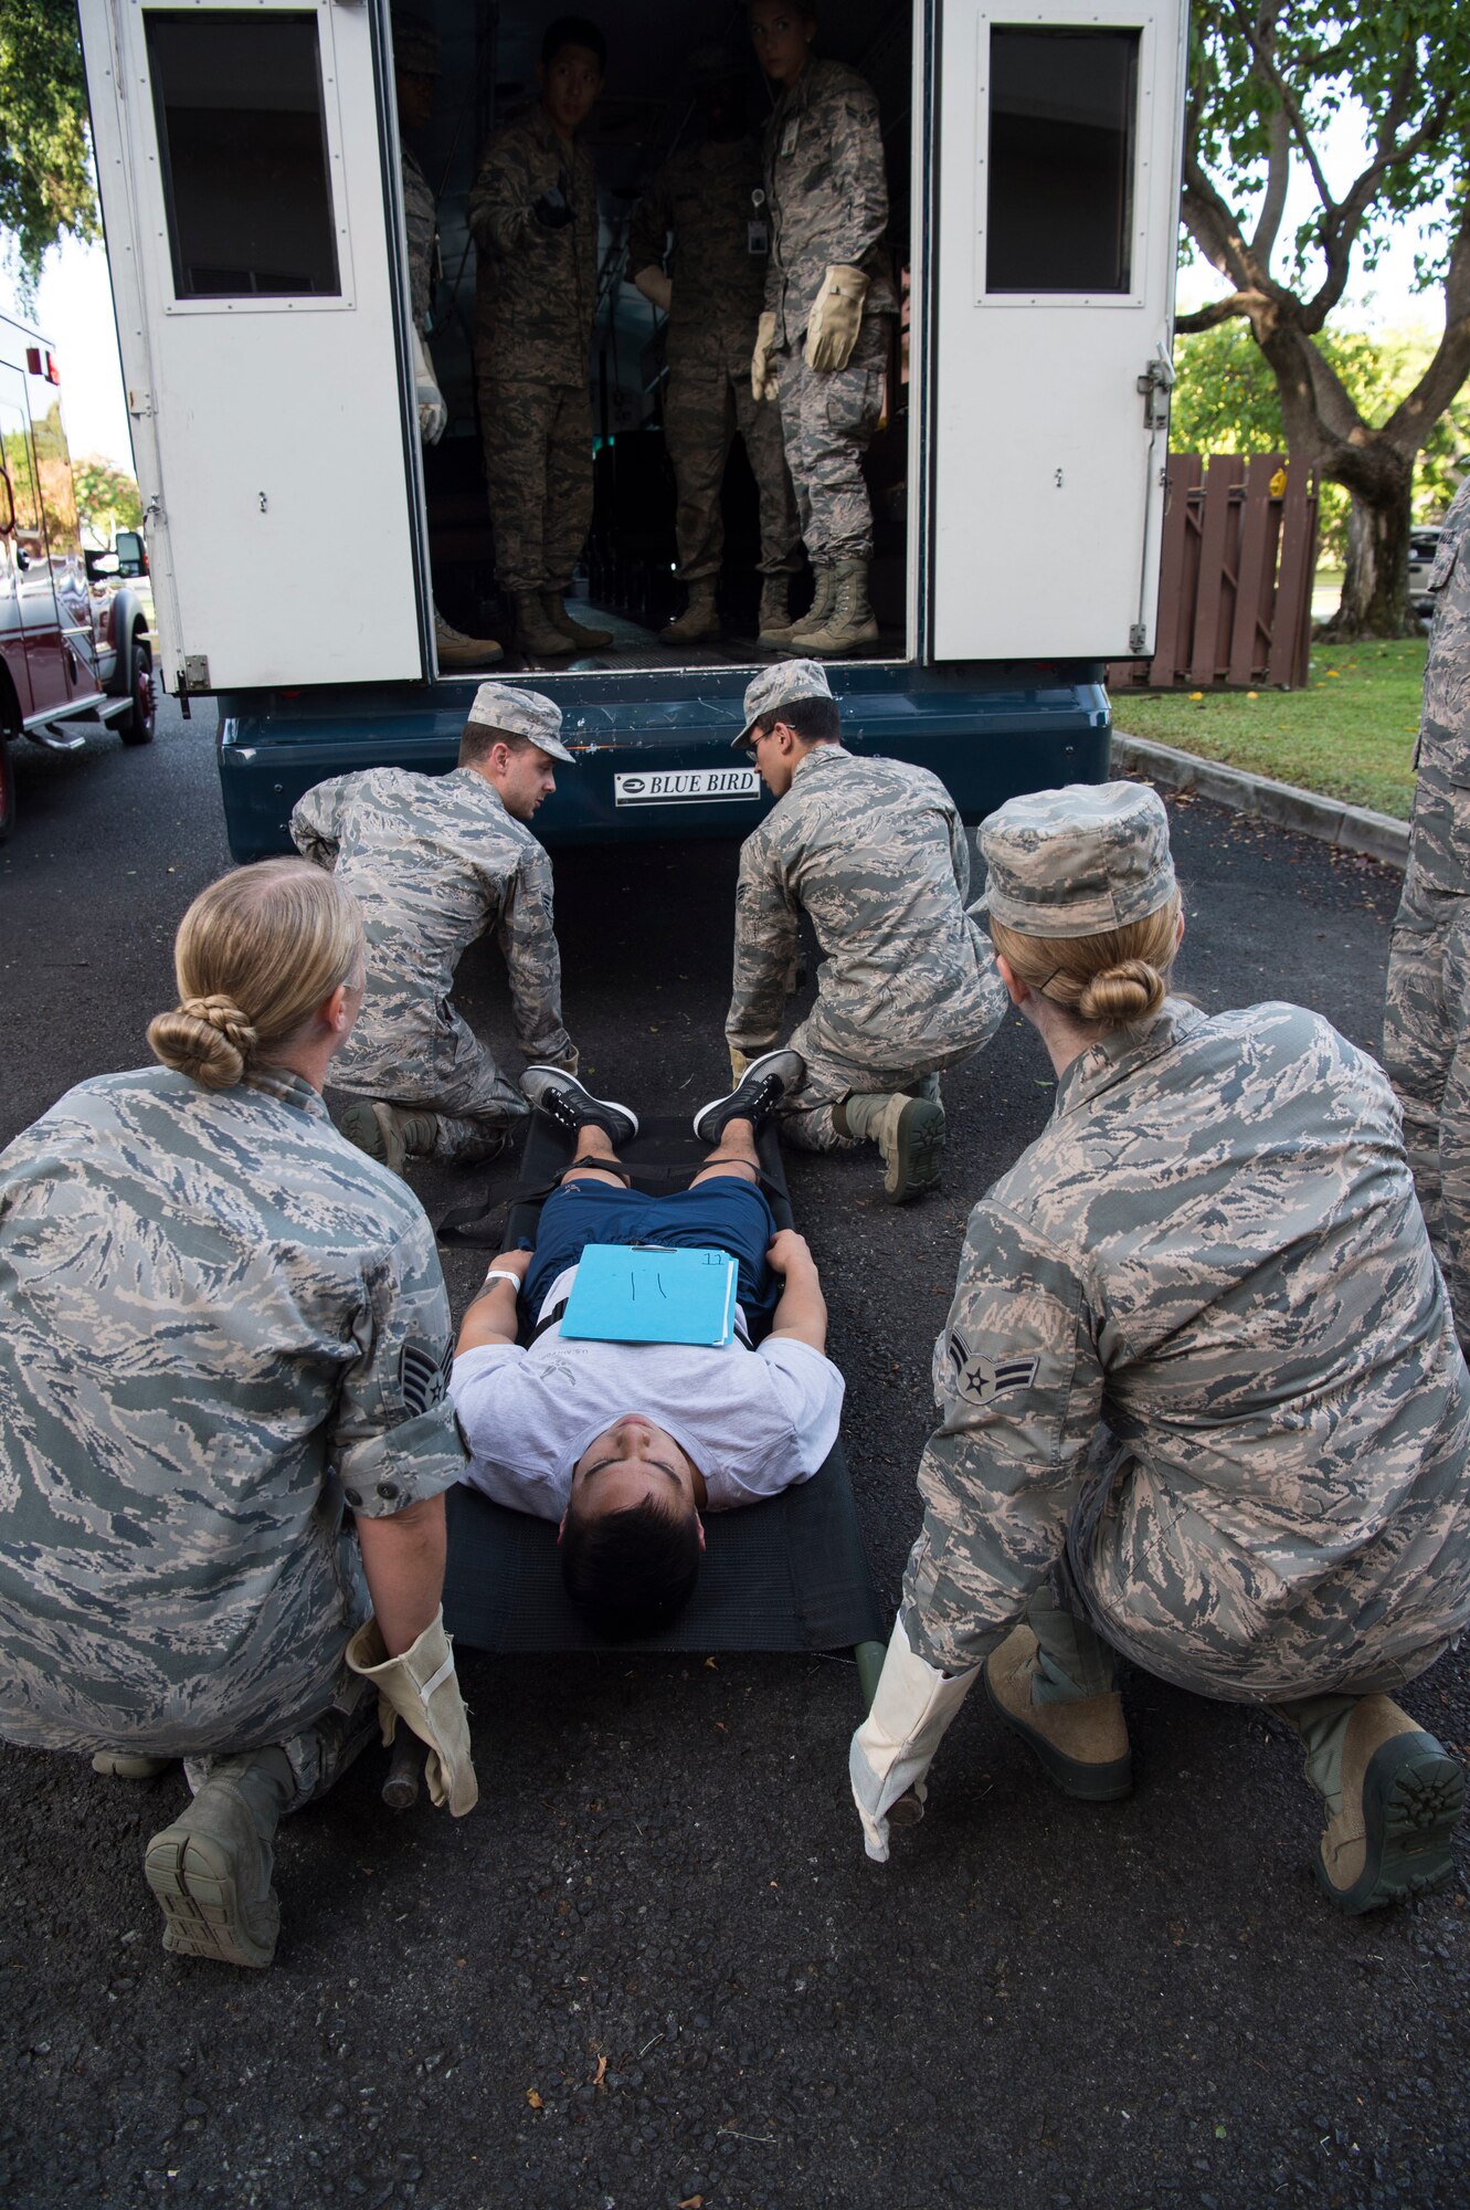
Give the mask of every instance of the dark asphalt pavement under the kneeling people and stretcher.
[[(212, 729), (22, 747), (0, 846), (0, 1140), (146, 1061), (183, 906), (227, 860)], [(1373, 1048), (1397, 877), (1172, 800), (1207, 1008), (1318, 1006)], [(722, 1087), (728, 844), (556, 860), (567, 1025), (614, 1096)], [(466, 961), (505, 1036), (497, 955)], [(894, 1213), (867, 1158), (792, 1158), (848, 1375), (885, 1602), (918, 1509), (929, 1350), (969, 1204), (1042, 1127), (1006, 1023), (947, 1078), (945, 1191)], [(415, 1171), (430, 1216), (472, 1174)], [(457, 1311), (483, 1260), (448, 1253)], [(1470, 1666), (1404, 1697), (1470, 1748)], [(980, 1695), (929, 1817), (863, 1856), (854, 1669), (810, 1658), (461, 1658), (481, 1779), (395, 1819), (364, 1759), (280, 1839), (278, 1962), (168, 1958), (141, 1876), (183, 1799), (0, 1750), (0, 2199), (300, 2210), (1256, 2210), (1463, 2206), (1466, 1883), (1338, 1918), (1271, 1719), (1143, 1675), (1137, 1790), (1048, 1788)], [(1463, 1856), (1461, 1856), (1463, 1867)]]

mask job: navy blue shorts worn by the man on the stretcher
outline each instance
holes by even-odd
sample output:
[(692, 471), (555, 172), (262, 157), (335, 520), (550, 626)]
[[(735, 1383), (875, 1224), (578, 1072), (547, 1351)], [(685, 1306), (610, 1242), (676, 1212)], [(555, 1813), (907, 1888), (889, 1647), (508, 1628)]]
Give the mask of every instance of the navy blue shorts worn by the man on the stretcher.
[(697, 1189), (647, 1198), (611, 1182), (563, 1182), (541, 1207), (536, 1251), (525, 1273), (525, 1311), (541, 1304), (565, 1266), (576, 1266), (589, 1242), (660, 1242), (675, 1251), (728, 1251), (737, 1262), (735, 1297), (746, 1313), (773, 1313), (779, 1282), (766, 1264), (775, 1213), (755, 1182), (713, 1174)]

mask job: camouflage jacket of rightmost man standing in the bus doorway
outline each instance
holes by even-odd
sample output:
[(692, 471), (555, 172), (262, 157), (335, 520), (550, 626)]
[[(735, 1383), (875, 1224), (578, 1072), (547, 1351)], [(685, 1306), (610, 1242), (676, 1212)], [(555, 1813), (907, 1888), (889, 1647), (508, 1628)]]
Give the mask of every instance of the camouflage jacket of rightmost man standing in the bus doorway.
[(898, 305), (887, 265), (887, 177), (872, 86), (817, 55), (766, 124), (770, 270), (766, 307), (777, 345), (797, 345), (832, 263), (872, 278), (863, 316)]

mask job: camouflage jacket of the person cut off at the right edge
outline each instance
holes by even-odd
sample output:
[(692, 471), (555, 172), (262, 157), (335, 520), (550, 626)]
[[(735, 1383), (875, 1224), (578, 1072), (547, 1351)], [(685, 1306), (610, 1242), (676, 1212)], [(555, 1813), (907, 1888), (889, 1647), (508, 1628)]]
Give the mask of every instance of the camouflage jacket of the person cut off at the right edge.
[(1470, 897), (1470, 477), (1444, 517), (1428, 588), (1435, 623), (1415, 745), (1410, 877)]

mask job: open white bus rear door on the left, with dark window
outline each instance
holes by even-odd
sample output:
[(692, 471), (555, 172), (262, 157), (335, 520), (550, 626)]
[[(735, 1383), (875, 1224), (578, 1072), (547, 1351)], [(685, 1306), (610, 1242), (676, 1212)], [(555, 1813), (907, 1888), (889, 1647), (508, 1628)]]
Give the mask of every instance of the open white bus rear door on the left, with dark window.
[(380, 0), (82, 0), (163, 672), (433, 667)]

